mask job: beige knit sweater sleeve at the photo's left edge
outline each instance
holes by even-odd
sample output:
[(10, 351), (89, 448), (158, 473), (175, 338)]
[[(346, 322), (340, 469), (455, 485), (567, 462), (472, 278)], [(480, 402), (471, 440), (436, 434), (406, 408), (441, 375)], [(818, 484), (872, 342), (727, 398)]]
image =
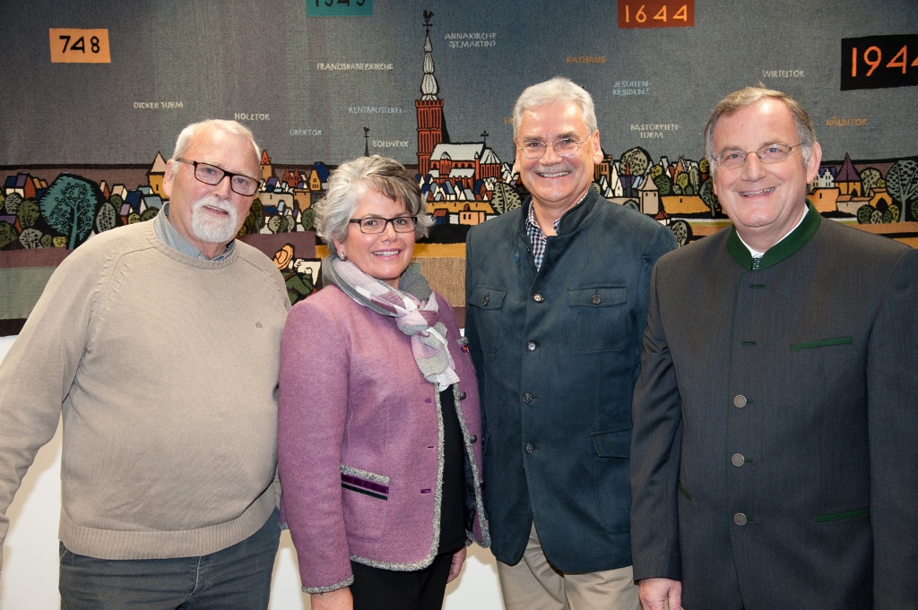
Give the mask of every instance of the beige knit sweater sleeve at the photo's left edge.
[(13, 502), (35, 454), (57, 430), (86, 349), (95, 296), (111, 261), (76, 250), (51, 274), (0, 363), (0, 562)]

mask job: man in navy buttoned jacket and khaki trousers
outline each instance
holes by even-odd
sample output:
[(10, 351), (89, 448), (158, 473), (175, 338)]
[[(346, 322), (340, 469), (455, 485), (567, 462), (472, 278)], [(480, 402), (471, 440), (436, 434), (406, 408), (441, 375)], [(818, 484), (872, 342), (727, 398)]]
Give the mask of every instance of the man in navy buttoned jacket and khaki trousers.
[(635, 610), (631, 400), (650, 272), (676, 240), (590, 188), (603, 154), (576, 84), (524, 91), (513, 135), (532, 196), (469, 231), (465, 272), (504, 603)]

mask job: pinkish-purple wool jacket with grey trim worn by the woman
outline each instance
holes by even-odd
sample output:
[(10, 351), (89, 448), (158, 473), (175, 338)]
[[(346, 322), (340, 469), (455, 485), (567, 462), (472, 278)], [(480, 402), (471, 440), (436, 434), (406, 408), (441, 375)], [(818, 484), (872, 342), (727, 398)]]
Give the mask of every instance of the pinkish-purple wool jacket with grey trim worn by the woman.
[[(487, 546), (475, 370), (453, 307), (436, 298), (461, 380), (453, 394), (475, 482), (468, 536)], [(297, 547), (303, 590), (348, 586), (350, 560), (394, 571), (430, 565), (440, 533), (440, 399), (395, 318), (336, 286), (298, 303), (284, 330), (279, 392), (281, 518)]]

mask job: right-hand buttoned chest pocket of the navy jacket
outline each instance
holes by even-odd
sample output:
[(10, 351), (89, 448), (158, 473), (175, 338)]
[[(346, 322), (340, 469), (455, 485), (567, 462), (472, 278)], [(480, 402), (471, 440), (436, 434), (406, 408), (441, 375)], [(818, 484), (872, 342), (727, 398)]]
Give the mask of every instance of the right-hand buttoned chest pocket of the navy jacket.
[(567, 347), (573, 353), (621, 351), (633, 342), (627, 285), (571, 288), (567, 306)]

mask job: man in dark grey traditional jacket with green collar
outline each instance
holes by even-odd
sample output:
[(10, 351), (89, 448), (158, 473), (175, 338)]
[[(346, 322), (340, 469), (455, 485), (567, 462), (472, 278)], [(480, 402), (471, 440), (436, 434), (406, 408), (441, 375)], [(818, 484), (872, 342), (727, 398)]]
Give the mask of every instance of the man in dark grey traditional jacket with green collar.
[(918, 251), (806, 201), (822, 149), (777, 91), (705, 128), (733, 220), (663, 257), (634, 392), (645, 610), (918, 604)]

